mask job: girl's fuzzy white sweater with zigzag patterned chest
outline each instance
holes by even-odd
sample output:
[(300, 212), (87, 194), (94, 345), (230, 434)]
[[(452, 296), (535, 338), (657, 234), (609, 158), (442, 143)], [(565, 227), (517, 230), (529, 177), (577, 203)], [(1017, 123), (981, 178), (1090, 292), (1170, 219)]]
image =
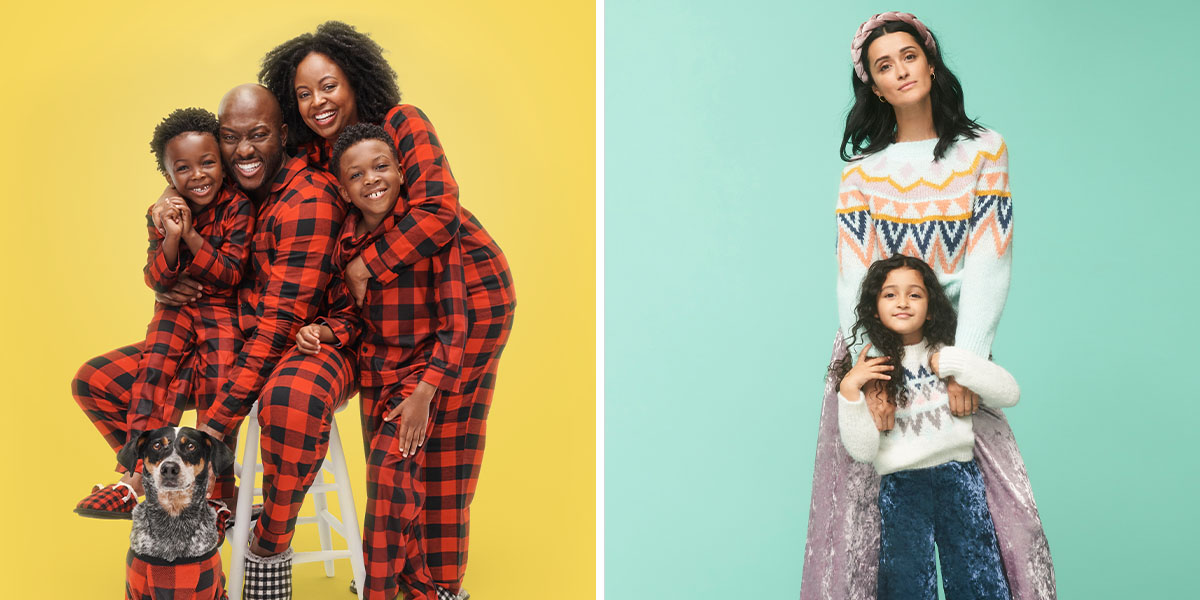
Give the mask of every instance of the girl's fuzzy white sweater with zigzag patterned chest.
[[(862, 392), (853, 402), (838, 394), (838, 428), (842, 445), (856, 461), (872, 463), (880, 475), (974, 458), (971, 416), (950, 414), (946, 382), (929, 366), (931, 354), (924, 341), (905, 346), (901, 366), (908, 406), (896, 408), (895, 427), (888, 433), (875, 428)], [(954, 377), (978, 394), (979, 401), (988, 407), (1008, 408), (1021, 397), (1008, 371), (970, 350), (947, 346), (941, 349), (937, 362), (942, 377)]]

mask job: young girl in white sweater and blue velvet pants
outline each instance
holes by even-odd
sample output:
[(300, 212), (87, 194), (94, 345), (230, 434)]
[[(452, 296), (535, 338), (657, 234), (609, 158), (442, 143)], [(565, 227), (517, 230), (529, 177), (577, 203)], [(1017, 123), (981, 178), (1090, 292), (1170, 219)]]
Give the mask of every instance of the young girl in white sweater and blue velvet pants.
[[(944, 379), (992, 408), (1016, 404), (1016, 382), (952, 346), (958, 318), (924, 260), (898, 254), (872, 264), (854, 314), (852, 335), (865, 334), (884, 354), (868, 358), (868, 344), (853, 367), (848, 355), (833, 365), (842, 444), (881, 475), (878, 598), (936, 599), (936, 542), (946, 598), (1008, 600), (971, 416), (950, 414)], [(872, 402), (896, 407), (890, 431), (876, 428)]]

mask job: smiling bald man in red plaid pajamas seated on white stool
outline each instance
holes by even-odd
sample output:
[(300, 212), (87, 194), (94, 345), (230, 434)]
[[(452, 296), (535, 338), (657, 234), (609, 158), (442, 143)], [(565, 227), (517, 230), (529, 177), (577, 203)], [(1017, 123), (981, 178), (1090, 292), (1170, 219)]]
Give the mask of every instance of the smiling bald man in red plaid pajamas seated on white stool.
[[(320, 317), (325, 288), (336, 275), (331, 256), (344, 208), (330, 175), (284, 154), (287, 126), (266, 89), (234, 88), (221, 101), (218, 120), (226, 170), (254, 200), (257, 224), (239, 293), (245, 342), (211, 406), (197, 407), (198, 422), (209, 433), (229, 437), (260, 401), (263, 514), (247, 553), (246, 587), (247, 594), (259, 594), (253, 598), (286, 599), (296, 515), (325, 456), (334, 410), (355, 388), (346, 350), (323, 344), (308, 355), (294, 344), (300, 326)], [(152, 209), (156, 222), (170, 194)], [(179, 304), (203, 293), (196, 282), (184, 281), (156, 299)], [(79, 370), (72, 386), (114, 451), (128, 436), (125, 415), (140, 353), (127, 346), (97, 356)], [(278, 586), (282, 581), (288, 584)]]

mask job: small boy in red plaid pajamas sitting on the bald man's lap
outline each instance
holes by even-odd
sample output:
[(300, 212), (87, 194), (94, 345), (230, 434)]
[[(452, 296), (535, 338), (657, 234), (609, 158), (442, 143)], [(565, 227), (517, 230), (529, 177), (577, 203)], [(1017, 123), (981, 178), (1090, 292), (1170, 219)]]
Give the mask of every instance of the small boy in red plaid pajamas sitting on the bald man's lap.
[[(172, 199), (163, 232), (148, 218), (146, 284), (166, 292), (186, 276), (203, 286), (204, 295), (178, 307), (155, 302), (126, 430), (106, 431), (110, 427), (103, 420), (92, 419), (114, 450), (143, 431), (179, 424), (190, 397), (202, 412), (208, 408), (241, 344), (238, 283), (254, 232), (254, 205), (224, 179), (217, 130), (212, 113), (181, 108), (155, 127), (150, 140), (158, 170), (181, 198)], [(233, 448), (236, 438), (226, 442)], [(232, 498), (232, 472), (218, 475), (214, 497)], [(130, 518), (142, 493), (142, 475), (125, 473), (116, 484), (94, 487), (76, 512)]]

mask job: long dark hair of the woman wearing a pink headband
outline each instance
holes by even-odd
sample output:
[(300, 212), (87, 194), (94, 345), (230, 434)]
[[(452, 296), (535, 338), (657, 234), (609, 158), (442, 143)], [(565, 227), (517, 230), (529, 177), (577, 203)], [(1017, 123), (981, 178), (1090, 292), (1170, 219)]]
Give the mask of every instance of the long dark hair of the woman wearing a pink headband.
[[(896, 31), (904, 31), (918, 41), (923, 37), (917, 32), (916, 28), (902, 20), (890, 20), (875, 28), (871, 35), (866, 37), (866, 42), (863, 43), (860, 60), (864, 67), (868, 65), (866, 52), (871, 47), (871, 43), (884, 34), (894, 34)], [(932, 36), (934, 32), (930, 31), (929, 35)], [(937, 43), (936, 36), (934, 40)], [(942, 44), (937, 43), (937, 48), (941, 49)], [(942, 52), (931, 52), (924, 43), (922, 43), (922, 50), (925, 53), (925, 60), (932, 65), (935, 73), (929, 90), (929, 100), (934, 104), (934, 130), (937, 132), (934, 160), (940, 161), (946, 156), (946, 151), (954, 144), (955, 139), (959, 137), (976, 138), (979, 136), (978, 131), (983, 127), (967, 116), (962, 103), (962, 86), (949, 67), (946, 66), (946, 62), (942, 61)], [(866, 77), (870, 80), (863, 83), (858, 78), (858, 74), (854, 73), (853, 67), (851, 67), (850, 78), (854, 90), (854, 106), (851, 107), (850, 114), (846, 115), (846, 131), (841, 134), (841, 160), (844, 161), (852, 161), (856, 156), (878, 152), (895, 140), (896, 113), (892, 108), (892, 104), (880, 102), (875, 97), (875, 92), (871, 91), (875, 79), (871, 76), (870, 68), (866, 68)]]

